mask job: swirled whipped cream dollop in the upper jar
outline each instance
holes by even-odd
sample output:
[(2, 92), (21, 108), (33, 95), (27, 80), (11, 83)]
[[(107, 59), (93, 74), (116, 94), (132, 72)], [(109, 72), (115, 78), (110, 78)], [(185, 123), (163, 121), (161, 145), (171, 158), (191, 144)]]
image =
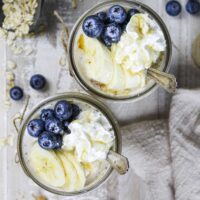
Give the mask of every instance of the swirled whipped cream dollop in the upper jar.
[(120, 41), (112, 45), (111, 53), (116, 64), (137, 73), (156, 63), (165, 48), (164, 35), (155, 20), (147, 14), (136, 14)]

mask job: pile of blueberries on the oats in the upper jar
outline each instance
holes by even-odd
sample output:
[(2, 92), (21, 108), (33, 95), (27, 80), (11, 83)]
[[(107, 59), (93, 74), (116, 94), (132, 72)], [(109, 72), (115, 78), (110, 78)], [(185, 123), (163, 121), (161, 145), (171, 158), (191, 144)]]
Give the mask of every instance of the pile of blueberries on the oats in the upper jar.
[(86, 17), (83, 22), (83, 32), (91, 38), (100, 39), (107, 47), (117, 43), (130, 18), (139, 13), (135, 8), (128, 12), (120, 5), (112, 6), (108, 12), (99, 12)]

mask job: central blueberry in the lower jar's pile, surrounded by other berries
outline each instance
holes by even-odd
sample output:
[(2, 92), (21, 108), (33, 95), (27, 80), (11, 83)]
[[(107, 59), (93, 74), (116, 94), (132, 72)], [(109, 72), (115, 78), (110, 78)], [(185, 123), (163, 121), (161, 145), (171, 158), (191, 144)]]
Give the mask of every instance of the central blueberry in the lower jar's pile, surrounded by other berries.
[(45, 122), (46, 131), (60, 134), (62, 132), (62, 122), (56, 118), (50, 118)]

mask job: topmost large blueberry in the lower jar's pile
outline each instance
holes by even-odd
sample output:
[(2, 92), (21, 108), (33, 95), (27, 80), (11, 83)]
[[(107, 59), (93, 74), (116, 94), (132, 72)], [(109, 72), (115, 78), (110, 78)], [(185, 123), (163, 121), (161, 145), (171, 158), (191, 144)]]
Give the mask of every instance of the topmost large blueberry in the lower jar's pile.
[(65, 100), (56, 103), (54, 108), (55, 115), (60, 120), (68, 120), (72, 116), (72, 105)]

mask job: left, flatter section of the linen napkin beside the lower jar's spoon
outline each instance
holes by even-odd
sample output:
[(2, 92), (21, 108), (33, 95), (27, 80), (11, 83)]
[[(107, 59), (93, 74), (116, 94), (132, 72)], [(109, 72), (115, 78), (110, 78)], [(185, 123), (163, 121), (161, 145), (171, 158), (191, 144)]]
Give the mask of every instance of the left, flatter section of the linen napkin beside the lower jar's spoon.
[[(145, 187), (140, 200), (172, 200), (172, 176), (167, 120), (140, 122), (123, 128), (123, 154)], [(134, 185), (129, 185), (129, 191)], [(126, 196), (129, 197), (127, 192)], [(126, 198), (134, 200), (134, 198)]]

